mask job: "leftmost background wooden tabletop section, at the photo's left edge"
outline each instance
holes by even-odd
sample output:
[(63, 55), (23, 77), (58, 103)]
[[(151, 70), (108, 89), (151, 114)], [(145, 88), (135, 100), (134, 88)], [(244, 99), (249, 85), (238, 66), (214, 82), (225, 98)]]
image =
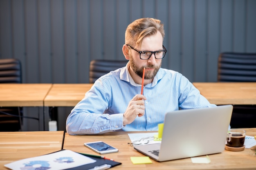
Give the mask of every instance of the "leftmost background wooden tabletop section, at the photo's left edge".
[(0, 84), (0, 107), (41, 107), (52, 84)]

